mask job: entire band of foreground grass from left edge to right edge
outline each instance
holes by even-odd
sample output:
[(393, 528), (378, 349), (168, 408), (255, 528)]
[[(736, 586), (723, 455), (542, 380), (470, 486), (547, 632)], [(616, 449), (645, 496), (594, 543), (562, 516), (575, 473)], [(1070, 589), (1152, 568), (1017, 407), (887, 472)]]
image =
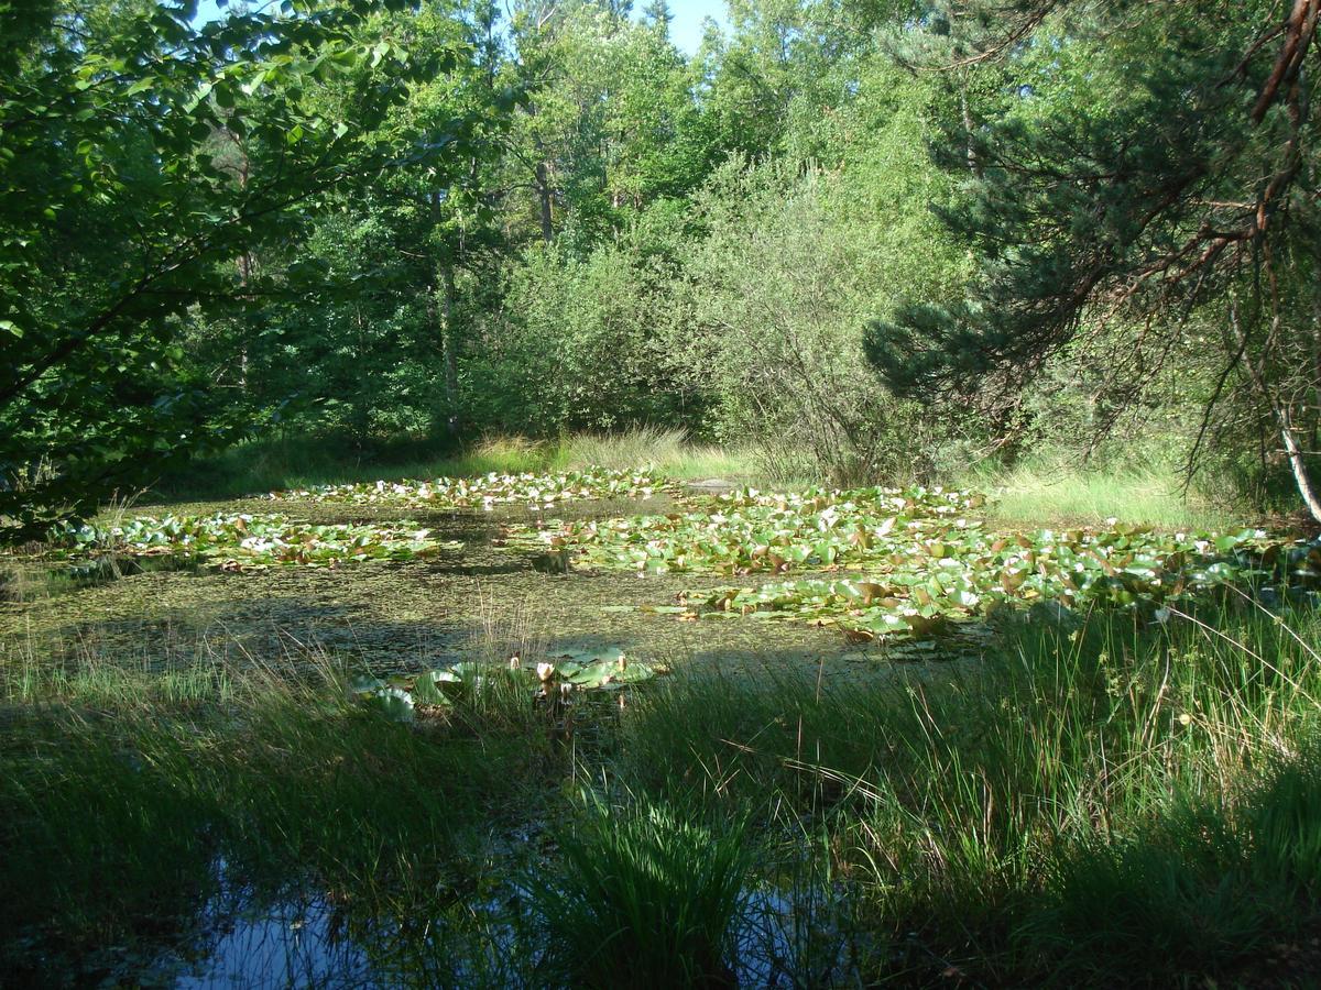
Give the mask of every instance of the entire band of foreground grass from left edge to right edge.
[[(535, 651), (531, 624), (481, 639)], [(576, 751), (514, 692), (388, 722), (345, 697), (334, 657), (34, 648), (0, 669), (0, 931), (36, 927), (41, 952), (128, 939), (129, 919), (186, 912), (223, 857), (374, 902), (399, 931), (466, 906), (486, 919), (469, 962), (413, 946), (461, 982), (728, 983), (758, 890), (799, 933), (769, 952), (808, 985), (1306, 982), (1318, 634), (1313, 612), (1248, 605), (1081, 628), (1026, 614), (976, 663), (680, 669)], [(528, 821), (532, 909), (505, 917), (482, 882), (523, 861), (483, 837)], [(16, 958), (0, 968), (28, 972)]]

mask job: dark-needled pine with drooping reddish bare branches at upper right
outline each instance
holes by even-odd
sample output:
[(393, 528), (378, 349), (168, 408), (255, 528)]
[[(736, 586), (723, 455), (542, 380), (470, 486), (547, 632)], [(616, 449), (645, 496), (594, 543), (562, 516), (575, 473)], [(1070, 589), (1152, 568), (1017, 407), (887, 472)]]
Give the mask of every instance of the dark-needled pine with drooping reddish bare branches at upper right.
[(1300, 397), (1318, 384), (1312, 9), (988, 3), (911, 32), (919, 61), (978, 66), (933, 144), (963, 178), (937, 213), (975, 272), (881, 314), (867, 347), (885, 380), (972, 401), (1001, 434), (1041, 379), (1081, 383), (1096, 433), (1189, 403), (1192, 466), (1258, 454), (1258, 477), (1291, 469), (1321, 512)]

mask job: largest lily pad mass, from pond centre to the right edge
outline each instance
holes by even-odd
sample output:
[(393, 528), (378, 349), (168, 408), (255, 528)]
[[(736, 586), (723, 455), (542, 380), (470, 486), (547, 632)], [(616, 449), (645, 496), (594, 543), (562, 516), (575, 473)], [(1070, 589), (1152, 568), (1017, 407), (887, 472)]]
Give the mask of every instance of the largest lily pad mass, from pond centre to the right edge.
[(935, 636), (951, 622), (1034, 602), (1143, 607), (1155, 615), (1230, 585), (1254, 587), (1264, 603), (1310, 601), (1321, 577), (1321, 548), (1272, 540), (1260, 529), (1172, 535), (1111, 524), (991, 533), (968, 517), (983, 502), (942, 488), (748, 490), (705, 512), (510, 527), (507, 540), (643, 573), (834, 572), (684, 591), (678, 606), (649, 611), (807, 620), (863, 638)]

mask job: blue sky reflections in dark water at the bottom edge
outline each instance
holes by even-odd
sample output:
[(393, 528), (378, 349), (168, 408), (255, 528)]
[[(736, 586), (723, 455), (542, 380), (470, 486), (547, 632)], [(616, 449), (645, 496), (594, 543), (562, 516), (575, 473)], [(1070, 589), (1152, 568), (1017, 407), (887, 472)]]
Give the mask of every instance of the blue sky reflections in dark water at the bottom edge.
[[(324, 894), (260, 898), (234, 884), (223, 862), (217, 869), (219, 890), (199, 911), (192, 941), (136, 974), (123, 973), (128, 985), (329, 990), (535, 982), (536, 953), (522, 937), (528, 919), (511, 909), (519, 900), (513, 883), (461, 906), (474, 923), (466, 931), (445, 916), (404, 931), (391, 920), (351, 917)], [(738, 986), (801, 986), (807, 973), (814, 985), (832, 985), (847, 975), (851, 953), (822, 898), (822, 891), (773, 886), (748, 892), (734, 933)]]

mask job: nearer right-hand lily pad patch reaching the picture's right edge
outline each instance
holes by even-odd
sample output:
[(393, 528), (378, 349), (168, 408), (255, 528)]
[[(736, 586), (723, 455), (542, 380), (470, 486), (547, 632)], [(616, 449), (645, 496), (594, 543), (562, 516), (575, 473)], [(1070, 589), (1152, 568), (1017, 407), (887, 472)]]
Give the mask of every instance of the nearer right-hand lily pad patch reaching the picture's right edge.
[(684, 591), (688, 615), (734, 614), (836, 626), (861, 638), (930, 636), (1011, 605), (1157, 610), (1230, 586), (1263, 597), (1321, 581), (1321, 548), (1238, 533), (1156, 533), (1143, 527), (988, 535), (951, 527), (890, 545), (867, 573)]

